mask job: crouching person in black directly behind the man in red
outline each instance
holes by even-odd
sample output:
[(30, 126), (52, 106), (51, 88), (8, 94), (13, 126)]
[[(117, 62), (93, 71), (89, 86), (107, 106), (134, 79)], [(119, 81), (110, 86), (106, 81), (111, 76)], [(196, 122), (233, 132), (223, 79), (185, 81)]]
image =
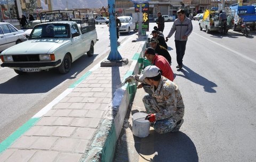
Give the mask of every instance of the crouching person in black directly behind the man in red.
[(148, 43), (150, 44), (150, 46), (152, 48), (154, 48), (155, 52), (158, 55), (164, 56), (164, 58), (171, 64), (172, 58), (171, 58), (170, 53), (166, 50), (165, 47), (163, 47), (163, 46), (158, 44), (158, 40), (157, 39), (151, 38)]

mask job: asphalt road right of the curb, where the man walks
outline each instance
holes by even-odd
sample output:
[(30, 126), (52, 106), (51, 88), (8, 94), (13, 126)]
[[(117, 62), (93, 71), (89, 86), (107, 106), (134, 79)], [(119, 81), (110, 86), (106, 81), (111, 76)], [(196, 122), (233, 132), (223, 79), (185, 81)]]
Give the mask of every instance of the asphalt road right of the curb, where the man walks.
[[(165, 36), (172, 24), (165, 23)], [(198, 21), (193, 27), (182, 70), (175, 68), (174, 36), (167, 42), (185, 103), (180, 132), (151, 130), (144, 139), (121, 134), (115, 161), (255, 161), (256, 33), (206, 34)], [(141, 100), (133, 104), (143, 107)]]

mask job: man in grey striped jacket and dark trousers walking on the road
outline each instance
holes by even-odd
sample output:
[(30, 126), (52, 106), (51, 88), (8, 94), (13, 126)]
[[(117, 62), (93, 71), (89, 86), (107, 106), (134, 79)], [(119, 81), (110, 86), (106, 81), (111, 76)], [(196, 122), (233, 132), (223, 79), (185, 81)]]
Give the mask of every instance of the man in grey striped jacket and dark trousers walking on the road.
[(193, 26), (191, 20), (185, 16), (185, 11), (180, 9), (178, 12), (178, 19), (175, 19), (173, 22), (173, 26), (170, 30), (170, 33), (166, 37), (166, 42), (168, 38), (170, 38), (175, 32), (175, 47), (177, 54), (177, 63), (178, 66), (176, 68), (181, 69), (183, 65), (183, 56), (186, 50), (186, 44), (188, 40), (188, 36), (192, 33)]

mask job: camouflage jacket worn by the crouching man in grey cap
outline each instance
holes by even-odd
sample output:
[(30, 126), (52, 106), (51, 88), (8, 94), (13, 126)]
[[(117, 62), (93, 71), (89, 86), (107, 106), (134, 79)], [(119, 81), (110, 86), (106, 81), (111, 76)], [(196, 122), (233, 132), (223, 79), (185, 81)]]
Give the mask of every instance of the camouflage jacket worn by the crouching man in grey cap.
[(158, 105), (156, 120), (173, 118), (180, 120), (184, 116), (184, 104), (178, 86), (162, 76), (157, 89), (151, 86), (153, 98)]

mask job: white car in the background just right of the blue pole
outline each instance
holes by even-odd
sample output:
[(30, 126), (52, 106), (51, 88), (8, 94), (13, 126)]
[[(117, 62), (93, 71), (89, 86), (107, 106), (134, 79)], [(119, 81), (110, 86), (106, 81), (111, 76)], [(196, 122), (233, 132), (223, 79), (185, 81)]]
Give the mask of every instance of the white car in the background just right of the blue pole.
[(120, 33), (130, 34), (131, 30), (135, 30), (135, 22), (132, 22), (132, 17), (117, 17), (121, 21)]

